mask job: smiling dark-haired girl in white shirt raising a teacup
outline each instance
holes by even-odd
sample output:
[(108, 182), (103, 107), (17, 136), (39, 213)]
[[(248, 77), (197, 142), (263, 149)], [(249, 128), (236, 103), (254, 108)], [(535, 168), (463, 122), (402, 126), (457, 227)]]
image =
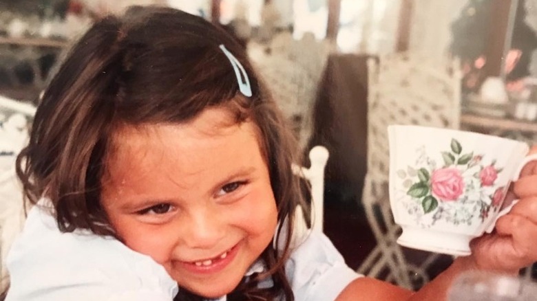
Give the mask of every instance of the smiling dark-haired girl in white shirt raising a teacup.
[(472, 256), (412, 293), (328, 238), (291, 244), (291, 134), (244, 49), (169, 8), (98, 21), (45, 91), (18, 174), (34, 204), (7, 300), (441, 300), (467, 269), (537, 260), (537, 188)]

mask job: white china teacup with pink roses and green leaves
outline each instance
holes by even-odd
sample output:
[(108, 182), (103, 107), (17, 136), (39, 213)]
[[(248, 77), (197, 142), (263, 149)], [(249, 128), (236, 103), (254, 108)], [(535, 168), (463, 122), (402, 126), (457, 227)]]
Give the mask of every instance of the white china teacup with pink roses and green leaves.
[(523, 142), (425, 126), (388, 126), (390, 206), (397, 243), (464, 256), (472, 238), (491, 232), (512, 181), (529, 155)]

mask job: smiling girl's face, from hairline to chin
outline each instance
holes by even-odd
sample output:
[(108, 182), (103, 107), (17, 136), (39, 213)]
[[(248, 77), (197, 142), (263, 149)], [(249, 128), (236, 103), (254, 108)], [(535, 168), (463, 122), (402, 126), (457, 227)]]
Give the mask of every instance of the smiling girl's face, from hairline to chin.
[(232, 291), (277, 224), (251, 122), (206, 109), (186, 124), (125, 127), (103, 177), (102, 205), (125, 244), (201, 296)]

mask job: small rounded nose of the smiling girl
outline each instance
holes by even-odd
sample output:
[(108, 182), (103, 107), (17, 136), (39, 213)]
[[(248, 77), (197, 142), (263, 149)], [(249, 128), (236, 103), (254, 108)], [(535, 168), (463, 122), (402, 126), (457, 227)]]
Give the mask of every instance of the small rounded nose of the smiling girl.
[(193, 249), (211, 249), (224, 237), (225, 225), (215, 210), (203, 209), (191, 214), (183, 240)]

